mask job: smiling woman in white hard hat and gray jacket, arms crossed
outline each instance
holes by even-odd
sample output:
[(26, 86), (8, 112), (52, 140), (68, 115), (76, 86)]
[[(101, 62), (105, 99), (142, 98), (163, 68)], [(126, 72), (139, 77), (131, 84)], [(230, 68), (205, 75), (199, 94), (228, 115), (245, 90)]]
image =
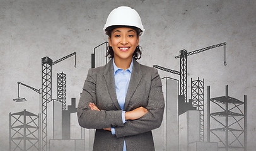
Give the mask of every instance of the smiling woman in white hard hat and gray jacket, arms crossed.
[(93, 150), (154, 150), (151, 130), (163, 119), (164, 99), (156, 69), (139, 64), (137, 11), (113, 9), (103, 28), (108, 35), (107, 65), (89, 69), (78, 104), (79, 125), (95, 128)]

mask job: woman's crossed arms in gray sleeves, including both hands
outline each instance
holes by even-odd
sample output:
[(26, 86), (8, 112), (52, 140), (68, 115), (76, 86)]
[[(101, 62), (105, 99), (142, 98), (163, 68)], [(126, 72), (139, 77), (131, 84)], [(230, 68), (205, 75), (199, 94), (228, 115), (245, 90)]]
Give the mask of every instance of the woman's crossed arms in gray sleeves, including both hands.
[[(99, 81), (102, 82), (102, 81)], [(155, 70), (151, 77), (148, 105), (125, 112), (124, 124), (122, 110), (100, 110), (96, 104), (96, 73), (91, 70), (84, 82), (84, 89), (78, 104), (79, 125), (84, 128), (110, 130), (115, 127), (115, 136), (137, 135), (158, 128), (163, 119), (165, 107), (160, 76)], [(108, 98), (107, 98), (108, 99)], [(93, 104), (95, 103), (95, 104)]]

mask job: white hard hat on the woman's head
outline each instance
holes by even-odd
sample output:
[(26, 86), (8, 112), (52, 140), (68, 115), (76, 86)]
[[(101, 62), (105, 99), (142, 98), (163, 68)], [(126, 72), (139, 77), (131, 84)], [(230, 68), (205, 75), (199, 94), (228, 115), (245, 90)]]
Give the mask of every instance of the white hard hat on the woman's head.
[(141, 22), (141, 17), (137, 13), (137, 11), (127, 6), (120, 6), (119, 8), (113, 9), (113, 11), (111, 11), (108, 15), (103, 30), (105, 31), (106, 28), (108, 28), (109, 26), (115, 25), (135, 26), (142, 31), (139, 36), (143, 35), (145, 31)]

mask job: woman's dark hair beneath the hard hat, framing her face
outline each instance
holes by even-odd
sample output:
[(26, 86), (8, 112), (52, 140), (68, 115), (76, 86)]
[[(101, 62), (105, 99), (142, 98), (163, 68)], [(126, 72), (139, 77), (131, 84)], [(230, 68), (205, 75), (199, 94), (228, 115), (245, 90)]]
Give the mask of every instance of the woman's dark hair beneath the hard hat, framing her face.
[[(111, 38), (111, 32), (112, 30), (114, 30), (115, 28), (121, 28), (121, 27), (127, 27), (127, 28), (132, 28), (133, 30), (136, 31), (137, 33), (137, 37), (139, 37), (139, 35), (141, 34), (141, 29), (135, 27), (135, 26), (109, 26), (108, 28), (106, 28), (105, 32), (106, 32), (106, 35), (108, 35), (110, 38)], [(108, 47), (107, 47), (107, 56), (108, 58), (112, 59), (113, 58), (113, 48), (109, 46), (108, 44)], [(132, 57), (135, 59), (135, 60), (139, 60), (141, 59), (141, 52), (142, 52), (143, 48), (141, 46), (137, 46), (136, 49), (134, 50), (134, 53), (132, 53)]]

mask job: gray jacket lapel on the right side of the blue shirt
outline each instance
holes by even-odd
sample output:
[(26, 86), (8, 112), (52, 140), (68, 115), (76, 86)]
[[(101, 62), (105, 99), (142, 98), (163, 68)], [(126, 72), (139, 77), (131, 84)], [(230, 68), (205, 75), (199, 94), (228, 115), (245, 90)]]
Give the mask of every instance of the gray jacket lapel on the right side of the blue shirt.
[(139, 82), (141, 81), (142, 77), (143, 77), (143, 73), (141, 72), (140, 64), (136, 60), (134, 60), (131, 79), (130, 79), (129, 87), (125, 97), (124, 111), (126, 111), (129, 101), (131, 100), (132, 95), (136, 91), (137, 86), (139, 85)]

